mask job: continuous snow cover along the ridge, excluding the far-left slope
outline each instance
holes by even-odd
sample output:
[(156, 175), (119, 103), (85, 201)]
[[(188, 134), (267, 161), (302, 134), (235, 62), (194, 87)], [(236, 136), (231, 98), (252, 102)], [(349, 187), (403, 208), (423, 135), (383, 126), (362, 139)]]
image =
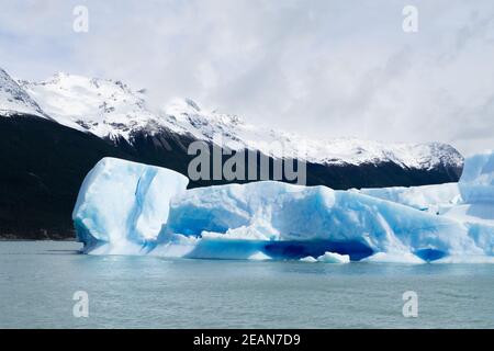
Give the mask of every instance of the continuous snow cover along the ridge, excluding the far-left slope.
[(189, 99), (160, 110), (148, 106), (145, 90), (132, 90), (117, 80), (57, 73), (42, 82), (21, 81), (58, 123), (101, 138), (123, 138), (164, 131), (194, 139), (222, 143), (232, 149), (259, 150), (274, 158), (296, 157), (321, 165), (394, 162), (404, 168), (461, 166), (462, 157), (449, 145), (383, 144), (352, 138), (314, 139), (246, 123), (239, 116), (202, 110)]

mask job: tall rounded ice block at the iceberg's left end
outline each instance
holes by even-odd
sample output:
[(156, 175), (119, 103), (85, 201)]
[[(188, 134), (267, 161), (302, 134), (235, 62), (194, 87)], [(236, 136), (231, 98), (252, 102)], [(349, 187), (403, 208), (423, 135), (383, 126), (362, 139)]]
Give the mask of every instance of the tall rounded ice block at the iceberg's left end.
[(151, 245), (166, 223), (170, 199), (189, 180), (172, 170), (103, 158), (86, 177), (72, 212), (78, 239), (90, 251), (131, 253)]

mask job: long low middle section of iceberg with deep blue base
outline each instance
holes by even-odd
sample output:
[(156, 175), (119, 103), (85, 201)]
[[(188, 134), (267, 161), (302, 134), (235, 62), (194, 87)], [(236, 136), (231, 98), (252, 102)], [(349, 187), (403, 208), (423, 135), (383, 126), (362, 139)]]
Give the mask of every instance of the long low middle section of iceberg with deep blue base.
[(414, 252), (425, 259), (483, 253), (456, 220), (353, 192), (272, 181), (177, 195), (159, 241), (177, 234), (237, 246), (257, 242), (255, 250), (293, 259), (326, 251), (352, 259), (381, 251)]

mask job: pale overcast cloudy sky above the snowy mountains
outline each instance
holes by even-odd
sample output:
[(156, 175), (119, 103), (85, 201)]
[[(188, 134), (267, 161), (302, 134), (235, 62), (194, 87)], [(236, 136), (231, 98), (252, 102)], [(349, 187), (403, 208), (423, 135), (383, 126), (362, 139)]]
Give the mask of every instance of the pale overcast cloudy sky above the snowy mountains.
[[(72, 10), (89, 10), (75, 33)], [(418, 32), (402, 10), (418, 9)], [(494, 148), (494, 1), (0, 0), (0, 66), (188, 97), (311, 137)]]

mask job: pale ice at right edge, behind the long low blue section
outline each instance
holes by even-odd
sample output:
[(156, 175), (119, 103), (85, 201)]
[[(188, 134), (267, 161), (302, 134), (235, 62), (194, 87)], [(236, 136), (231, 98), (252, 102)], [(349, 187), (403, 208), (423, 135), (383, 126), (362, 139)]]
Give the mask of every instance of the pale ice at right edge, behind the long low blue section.
[[(355, 192), (401, 203), (420, 211), (444, 215), (462, 223), (469, 236), (493, 252), (494, 247), (494, 152), (470, 157), (464, 162), (458, 183), (411, 186), (362, 189)], [(370, 260), (370, 259), (366, 259)], [(389, 256), (377, 254), (372, 260), (390, 261)], [(492, 262), (480, 257), (448, 257), (437, 262)]]

